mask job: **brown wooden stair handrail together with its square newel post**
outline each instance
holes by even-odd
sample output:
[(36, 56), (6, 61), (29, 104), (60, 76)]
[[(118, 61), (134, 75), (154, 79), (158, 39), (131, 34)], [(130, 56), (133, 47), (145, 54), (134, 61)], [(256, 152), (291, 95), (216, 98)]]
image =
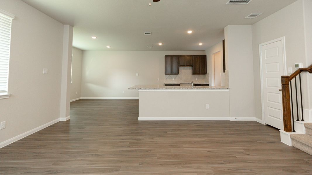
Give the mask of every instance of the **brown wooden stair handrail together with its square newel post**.
[(301, 72), (312, 73), (312, 65), (307, 68), (300, 68), (292, 73), (290, 76), (281, 76), (282, 80), (282, 99), (283, 99), (283, 121), (284, 131), (291, 132), (291, 114), (290, 114), (290, 91), (289, 82), (294, 79)]

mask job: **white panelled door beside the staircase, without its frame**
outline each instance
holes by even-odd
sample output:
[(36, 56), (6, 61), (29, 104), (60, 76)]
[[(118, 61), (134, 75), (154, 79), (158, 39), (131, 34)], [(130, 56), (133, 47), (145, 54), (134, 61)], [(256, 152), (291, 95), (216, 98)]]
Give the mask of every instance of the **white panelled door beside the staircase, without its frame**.
[(285, 75), (283, 41), (261, 46), (264, 122), (283, 129), (281, 76)]

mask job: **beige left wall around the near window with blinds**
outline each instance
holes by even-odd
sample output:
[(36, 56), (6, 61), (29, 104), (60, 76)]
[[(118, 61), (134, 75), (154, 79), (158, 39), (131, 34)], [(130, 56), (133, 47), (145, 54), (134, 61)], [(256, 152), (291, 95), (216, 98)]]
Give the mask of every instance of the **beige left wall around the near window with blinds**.
[[(8, 92), (0, 99), (0, 143), (60, 117), (63, 24), (20, 0), (1, 0), (12, 20)], [(48, 74), (43, 74), (48, 68)]]

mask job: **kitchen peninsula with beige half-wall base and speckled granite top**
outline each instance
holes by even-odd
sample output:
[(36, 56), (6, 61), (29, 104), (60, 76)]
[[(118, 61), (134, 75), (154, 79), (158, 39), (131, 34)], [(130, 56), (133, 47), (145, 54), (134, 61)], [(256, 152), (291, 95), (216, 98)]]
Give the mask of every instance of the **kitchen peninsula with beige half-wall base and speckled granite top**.
[(138, 120), (229, 120), (229, 88), (136, 85)]

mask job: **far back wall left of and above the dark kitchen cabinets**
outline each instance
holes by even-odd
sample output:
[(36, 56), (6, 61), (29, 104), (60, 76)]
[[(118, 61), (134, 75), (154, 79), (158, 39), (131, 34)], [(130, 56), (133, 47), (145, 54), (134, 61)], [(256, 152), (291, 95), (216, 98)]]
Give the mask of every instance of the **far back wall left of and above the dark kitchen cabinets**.
[(128, 88), (163, 84), (165, 55), (205, 55), (205, 52), (83, 51), (81, 97), (139, 97), (137, 90)]

